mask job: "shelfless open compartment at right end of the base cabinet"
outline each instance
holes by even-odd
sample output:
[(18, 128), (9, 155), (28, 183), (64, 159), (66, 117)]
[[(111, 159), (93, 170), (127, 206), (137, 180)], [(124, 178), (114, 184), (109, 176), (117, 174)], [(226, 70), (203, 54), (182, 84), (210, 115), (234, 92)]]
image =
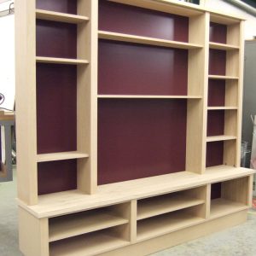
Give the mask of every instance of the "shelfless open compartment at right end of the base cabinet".
[(212, 183), (210, 218), (218, 218), (250, 207), (250, 189), (250, 177)]

